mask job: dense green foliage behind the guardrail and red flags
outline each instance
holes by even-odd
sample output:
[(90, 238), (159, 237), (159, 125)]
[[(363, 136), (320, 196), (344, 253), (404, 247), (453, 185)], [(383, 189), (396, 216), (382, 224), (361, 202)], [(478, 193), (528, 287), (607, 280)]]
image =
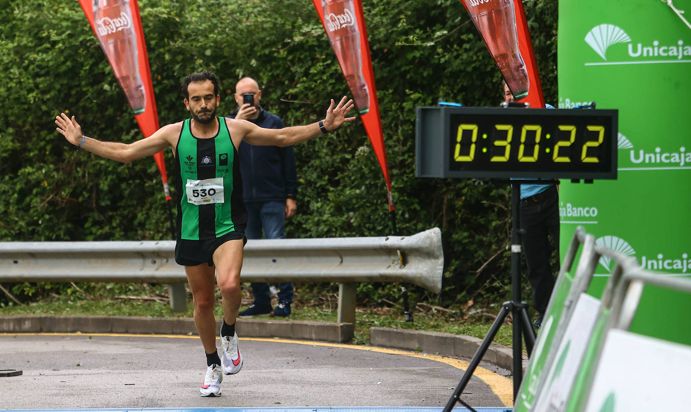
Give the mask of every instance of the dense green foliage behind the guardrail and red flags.
[[(153, 159), (117, 164), (55, 132), (61, 111), (84, 133), (142, 137), (124, 94), (75, 0), (3, 0), (0, 8), (0, 241), (170, 239)], [(547, 101), (556, 101), (556, 0), (525, 0)], [(310, 0), (140, 0), (160, 124), (187, 117), (179, 84), (209, 69), (222, 82), (223, 115), (235, 82), (249, 75), (263, 106), (285, 124), (323, 117), (348, 93)], [(505, 182), (415, 177), (415, 107), (439, 99), (497, 106), (500, 74), (459, 0), (363, 0), (401, 235), (438, 226), (446, 270), (438, 296), (451, 306), (507, 297), (509, 188)], [(165, 153), (173, 170), (170, 151)], [(296, 146), (299, 214), (291, 237), (392, 234), (386, 187), (361, 123)], [(176, 177), (169, 173), (171, 186)], [(174, 194), (175, 195), (175, 194)], [(174, 208), (173, 208), (174, 209)], [(174, 210), (173, 210), (174, 213)], [(29, 284), (15, 293), (37, 293)], [(395, 285), (361, 284), (377, 302)], [(0, 302), (6, 297), (0, 294)]]

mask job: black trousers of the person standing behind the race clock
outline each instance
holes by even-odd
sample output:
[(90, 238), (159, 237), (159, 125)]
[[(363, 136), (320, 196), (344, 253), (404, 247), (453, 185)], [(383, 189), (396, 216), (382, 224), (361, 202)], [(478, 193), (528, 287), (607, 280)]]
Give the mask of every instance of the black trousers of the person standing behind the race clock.
[[(523, 255), (528, 264), (528, 280), (533, 304), (545, 315), (559, 271), (559, 194), (557, 186), (520, 200)], [(556, 269), (551, 260), (556, 257)]]

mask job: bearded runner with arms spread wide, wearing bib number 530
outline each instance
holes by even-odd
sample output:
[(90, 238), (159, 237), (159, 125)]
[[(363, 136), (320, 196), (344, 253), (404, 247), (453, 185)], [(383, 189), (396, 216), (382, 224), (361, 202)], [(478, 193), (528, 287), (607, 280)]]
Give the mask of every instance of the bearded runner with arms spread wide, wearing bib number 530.
[[(220, 396), (223, 374), (233, 375), (243, 367), (235, 332), (243, 246), (247, 242), (247, 210), (238, 163), (240, 142), (292, 146), (339, 128), (355, 117), (345, 117), (353, 104), (352, 99), (345, 101), (343, 97), (339, 104), (331, 100), (325, 119), (319, 122), (281, 129), (260, 128), (247, 120), (216, 116), (220, 95), (213, 72), (193, 73), (182, 80), (181, 86), (191, 119), (163, 126), (131, 144), (86, 137), (75, 117), (65, 113), (55, 117), (55, 124), (71, 144), (123, 163), (154, 155), (168, 146), (173, 150), (180, 196), (175, 257), (187, 274), (194, 302), (194, 324), (207, 354), (207, 372), (200, 392), (202, 396)], [(223, 295), (220, 357), (214, 318), (216, 284)]]

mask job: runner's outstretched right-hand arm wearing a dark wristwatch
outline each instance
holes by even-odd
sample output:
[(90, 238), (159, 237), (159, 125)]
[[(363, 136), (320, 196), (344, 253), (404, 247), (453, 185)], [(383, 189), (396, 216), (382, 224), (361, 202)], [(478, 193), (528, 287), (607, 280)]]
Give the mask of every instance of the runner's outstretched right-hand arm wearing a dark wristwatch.
[[(325, 130), (330, 132), (341, 127), (341, 124), (346, 121), (353, 121), (355, 117), (345, 117), (353, 107), (352, 99), (345, 101), (345, 96), (339, 104), (331, 99), (331, 104), (326, 110), (326, 117), (321, 122)], [(258, 146), (292, 146), (323, 134), (319, 122), (282, 129), (265, 129), (249, 121), (237, 121), (231, 127), (234, 128), (233, 131), (239, 132), (236, 135), (242, 136), (247, 143)]]

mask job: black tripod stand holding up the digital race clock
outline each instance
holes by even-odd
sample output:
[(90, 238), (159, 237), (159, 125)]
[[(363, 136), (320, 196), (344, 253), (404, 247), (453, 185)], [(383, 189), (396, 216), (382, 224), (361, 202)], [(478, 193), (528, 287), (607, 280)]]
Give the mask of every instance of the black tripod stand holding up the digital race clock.
[[(463, 377), (456, 386), (451, 399), (448, 400), (444, 406), (444, 412), (451, 412), (456, 402), (462, 404), (471, 411), (475, 411), (471, 406), (461, 400), (461, 393), (465, 389), (468, 382), (470, 382), (473, 373), (480, 364), (484, 353), (489, 348), (489, 345), (494, 340), (499, 328), (504, 323), (507, 315), (511, 313), (513, 319), (513, 398), (518, 395), (518, 389), (523, 379), (522, 368), (522, 342), (525, 340), (525, 347), (530, 356), (535, 344), (535, 331), (531, 325), (528, 316), (527, 304), (521, 302), (521, 282), (520, 282), (520, 256), (521, 256), (521, 242), (520, 242), (520, 185), (522, 183), (533, 183), (531, 181), (511, 181), (511, 300), (502, 303), (502, 310), (497, 318), (494, 320), (489, 332), (484, 337), (480, 348), (477, 349), (473, 360), (468, 365)], [(544, 181), (542, 181), (544, 183)]]

